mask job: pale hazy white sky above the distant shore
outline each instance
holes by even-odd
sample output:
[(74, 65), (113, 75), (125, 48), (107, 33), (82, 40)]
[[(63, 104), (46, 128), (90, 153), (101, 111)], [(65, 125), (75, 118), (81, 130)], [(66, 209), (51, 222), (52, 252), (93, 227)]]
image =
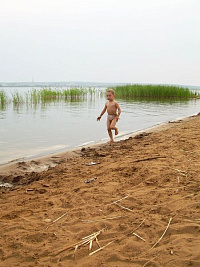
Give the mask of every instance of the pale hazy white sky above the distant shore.
[(200, 85), (199, 0), (0, 0), (0, 82)]

